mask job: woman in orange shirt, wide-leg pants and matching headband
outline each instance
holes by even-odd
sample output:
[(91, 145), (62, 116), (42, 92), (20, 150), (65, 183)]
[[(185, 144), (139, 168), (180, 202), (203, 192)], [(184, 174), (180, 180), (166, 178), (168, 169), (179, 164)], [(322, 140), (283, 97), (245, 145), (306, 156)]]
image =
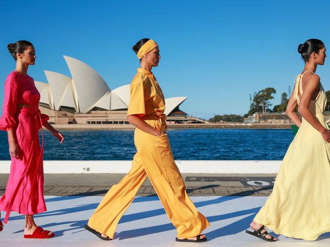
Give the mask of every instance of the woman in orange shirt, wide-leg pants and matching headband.
[(166, 134), (164, 96), (151, 72), (160, 59), (158, 45), (152, 39), (143, 38), (133, 50), (141, 66), (130, 84), (127, 121), (136, 127), (134, 142), (137, 153), (129, 173), (112, 186), (85, 228), (101, 239), (113, 239), (120, 218), (148, 176), (168, 217), (177, 228), (176, 241), (204, 242), (207, 238), (201, 232), (209, 226), (209, 222), (188, 197), (174, 162)]

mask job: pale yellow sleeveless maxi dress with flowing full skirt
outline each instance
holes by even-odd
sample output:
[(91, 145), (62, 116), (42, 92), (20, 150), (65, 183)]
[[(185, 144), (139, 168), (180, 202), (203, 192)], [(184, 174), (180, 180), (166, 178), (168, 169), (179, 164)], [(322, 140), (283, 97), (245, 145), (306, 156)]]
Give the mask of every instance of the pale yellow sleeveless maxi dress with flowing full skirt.
[[(298, 104), (298, 90), (303, 94), (303, 75), (298, 75), (294, 87)], [(321, 86), (309, 109), (328, 129), (323, 115), (325, 105)], [(306, 240), (330, 232), (330, 143), (304, 118), (283, 158), (273, 192), (254, 221), (277, 234)]]

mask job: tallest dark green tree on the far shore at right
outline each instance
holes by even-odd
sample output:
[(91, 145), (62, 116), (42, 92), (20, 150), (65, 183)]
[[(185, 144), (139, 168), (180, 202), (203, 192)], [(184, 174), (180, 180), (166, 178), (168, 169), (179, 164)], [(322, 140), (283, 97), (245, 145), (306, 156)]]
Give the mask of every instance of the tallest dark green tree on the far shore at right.
[(262, 89), (258, 93), (254, 93), (252, 104), (248, 112), (249, 115), (252, 115), (255, 112), (261, 111), (263, 114), (266, 114), (267, 111), (270, 111), (269, 107), (272, 106), (270, 100), (274, 99), (272, 96), (276, 94), (274, 88)]

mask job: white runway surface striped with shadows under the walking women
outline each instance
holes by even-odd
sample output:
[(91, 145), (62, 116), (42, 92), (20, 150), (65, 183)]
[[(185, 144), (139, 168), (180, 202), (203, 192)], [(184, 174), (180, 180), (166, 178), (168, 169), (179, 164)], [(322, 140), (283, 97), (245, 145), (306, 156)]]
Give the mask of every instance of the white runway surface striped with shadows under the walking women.
[[(115, 239), (103, 241), (83, 226), (95, 210), (100, 196), (46, 196), (47, 212), (36, 215), (36, 223), (56, 236), (51, 239), (24, 239), (23, 217), (12, 213), (0, 232), (0, 246), (196, 246), (175, 242), (176, 230), (157, 197), (137, 197), (121, 219)], [(204, 233), (208, 241), (201, 246), (330, 246), (330, 233), (316, 241), (287, 238), (270, 243), (248, 235), (245, 230), (267, 197), (203, 196), (191, 197), (211, 226)], [(2, 219), (4, 212), (2, 212)]]

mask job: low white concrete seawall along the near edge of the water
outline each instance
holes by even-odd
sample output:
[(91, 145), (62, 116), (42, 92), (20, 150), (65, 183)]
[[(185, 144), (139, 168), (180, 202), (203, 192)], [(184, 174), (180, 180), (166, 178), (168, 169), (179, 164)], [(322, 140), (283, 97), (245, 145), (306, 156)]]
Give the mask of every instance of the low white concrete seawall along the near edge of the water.
[[(10, 172), (10, 160), (0, 160), (0, 174)], [(181, 173), (276, 174), (281, 160), (176, 160)], [(127, 173), (131, 160), (44, 160), (45, 174)]]

